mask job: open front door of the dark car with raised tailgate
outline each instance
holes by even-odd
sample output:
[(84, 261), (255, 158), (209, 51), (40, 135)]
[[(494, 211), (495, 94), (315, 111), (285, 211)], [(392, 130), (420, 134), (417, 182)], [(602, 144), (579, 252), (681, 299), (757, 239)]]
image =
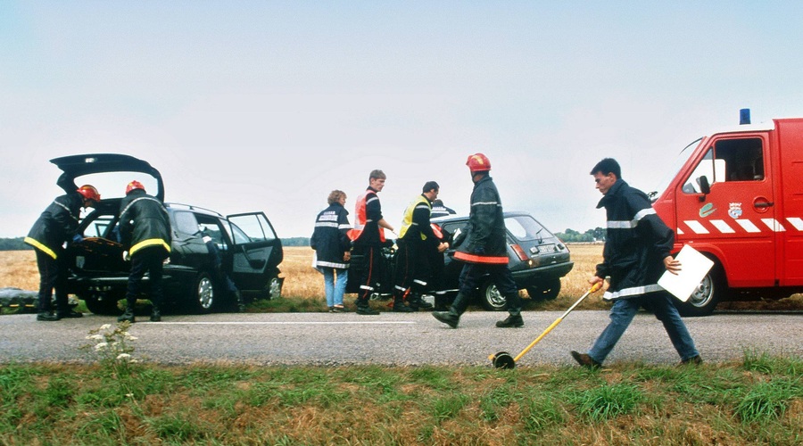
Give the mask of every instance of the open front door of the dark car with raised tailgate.
[(263, 290), (278, 273), (282, 243), (263, 212), (229, 215), (232, 278), (241, 290)]

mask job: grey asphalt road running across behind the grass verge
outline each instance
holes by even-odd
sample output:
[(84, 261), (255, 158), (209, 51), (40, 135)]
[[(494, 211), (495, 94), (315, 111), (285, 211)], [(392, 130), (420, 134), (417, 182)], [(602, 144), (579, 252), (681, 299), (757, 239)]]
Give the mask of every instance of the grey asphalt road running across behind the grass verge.
[[(490, 365), (488, 355), (516, 356), (562, 314), (526, 311), (525, 327), (496, 328), (506, 313), (470, 311), (458, 329), (429, 313), (213, 314), (139, 318), (129, 330), (137, 359), (161, 364), (235, 362), (258, 365), (381, 366)], [(741, 359), (745, 350), (803, 355), (803, 315), (716, 313), (684, 319), (703, 359)], [(115, 318), (87, 315), (37, 322), (36, 315), (0, 317), (0, 362), (87, 362), (79, 349), (90, 329)], [(586, 351), (608, 323), (607, 311), (575, 311), (534, 346), (518, 366), (573, 364), (570, 350)], [(648, 313), (633, 320), (608, 363), (640, 360), (674, 364), (679, 359), (660, 322)]]

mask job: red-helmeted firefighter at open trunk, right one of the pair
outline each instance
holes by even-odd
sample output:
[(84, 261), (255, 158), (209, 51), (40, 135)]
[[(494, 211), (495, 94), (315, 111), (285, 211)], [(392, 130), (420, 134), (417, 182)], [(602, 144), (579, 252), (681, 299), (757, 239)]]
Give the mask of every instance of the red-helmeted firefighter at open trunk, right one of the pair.
[(134, 322), (134, 304), (143, 292), (142, 277), (148, 273), (149, 299), (153, 306), (151, 321), (161, 320), (162, 263), (170, 255), (170, 218), (164, 204), (145, 193), (145, 186), (132, 181), (126, 187), (126, 196), (120, 202), (120, 239), (128, 248), (123, 256), (131, 258), (126, 290), (126, 311), (118, 322)]

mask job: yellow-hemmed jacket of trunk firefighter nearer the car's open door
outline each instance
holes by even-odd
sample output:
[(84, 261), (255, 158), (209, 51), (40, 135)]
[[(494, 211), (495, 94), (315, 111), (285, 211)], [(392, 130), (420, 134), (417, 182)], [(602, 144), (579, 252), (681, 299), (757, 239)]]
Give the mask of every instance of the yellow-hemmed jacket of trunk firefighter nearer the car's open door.
[(150, 246), (170, 253), (170, 217), (164, 204), (142, 189), (131, 191), (120, 202), (120, 239), (132, 256)]

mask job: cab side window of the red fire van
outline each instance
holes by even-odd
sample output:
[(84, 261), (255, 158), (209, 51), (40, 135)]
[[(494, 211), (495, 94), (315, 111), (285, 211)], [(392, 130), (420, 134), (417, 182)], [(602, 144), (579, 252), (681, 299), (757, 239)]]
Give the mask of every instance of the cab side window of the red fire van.
[(700, 194), (700, 178), (708, 184), (764, 179), (764, 151), (760, 138), (721, 139), (708, 149), (697, 168), (683, 184), (686, 194)]

